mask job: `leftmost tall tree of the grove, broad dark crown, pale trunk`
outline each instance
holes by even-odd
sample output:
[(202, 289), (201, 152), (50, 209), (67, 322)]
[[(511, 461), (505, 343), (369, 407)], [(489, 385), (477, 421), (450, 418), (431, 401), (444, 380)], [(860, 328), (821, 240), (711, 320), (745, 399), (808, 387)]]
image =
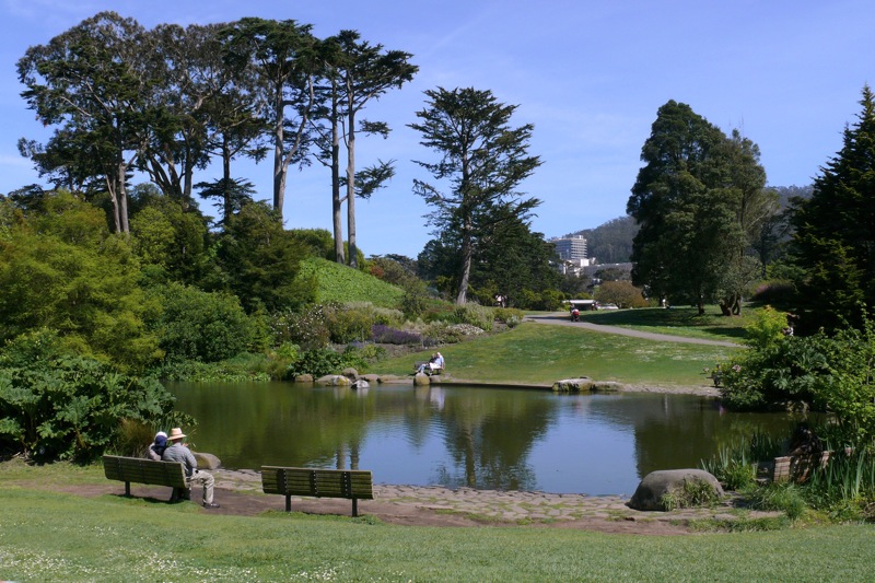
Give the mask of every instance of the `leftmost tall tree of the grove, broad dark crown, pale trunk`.
[(142, 59), (145, 31), (132, 19), (101, 12), (30, 47), (18, 62), (22, 96), (46, 126), (60, 126), (45, 150), (25, 151), (43, 170), (60, 167), (58, 148), (78, 150), (71, 177), (100, 176), (113, 207), (117, 232), (128, 232), (128, 173), (143, 151), (152, 115), (145, 96), (154, 82)]

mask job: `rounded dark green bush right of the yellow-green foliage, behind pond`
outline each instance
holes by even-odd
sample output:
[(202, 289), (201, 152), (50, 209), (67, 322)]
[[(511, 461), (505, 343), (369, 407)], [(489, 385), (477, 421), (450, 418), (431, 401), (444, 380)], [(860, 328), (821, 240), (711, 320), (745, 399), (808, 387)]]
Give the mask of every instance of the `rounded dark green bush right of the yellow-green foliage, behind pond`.
[(165, 359), (218, 362), (248, 350), (259, 318), (249, 317), (236, 296), (171, 283), (155, 288), (161, 305), (151, 326)]

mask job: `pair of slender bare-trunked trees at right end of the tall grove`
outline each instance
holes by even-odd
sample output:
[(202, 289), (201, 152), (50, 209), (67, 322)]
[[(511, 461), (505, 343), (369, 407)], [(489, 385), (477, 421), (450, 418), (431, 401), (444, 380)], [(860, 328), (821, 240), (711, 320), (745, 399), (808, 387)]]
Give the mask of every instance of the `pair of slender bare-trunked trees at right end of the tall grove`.
[[(390, 89), (399, 89), (412, 80), (419, 67), (411, 65), (412, 55), (401, 50), (384, 50), (383, 45), (361, 40), (357, 31), (341, 31), (324, 42), (325, 84), (322, 92), (325, 105), (322, 119), (327, 128), (322, 135), (320, 158), (331, 168), (331, 199), (337, 261), (343, 263), (341, 205), (347, 202), (349, 263), (357, 267), (355, 197), (370, 198), (394, 175), (392, 162), (378, 161), (361, 172), (355, 170), (355, 138), (364, 135), (388, 136), (382, 121), (360, 119), (359, 114), (372, 100), (378, 100)], [(340, 178), (340, 144), (347, 153), (347, 166)], [(341, 184), (346, 195), (341, 197)]]

